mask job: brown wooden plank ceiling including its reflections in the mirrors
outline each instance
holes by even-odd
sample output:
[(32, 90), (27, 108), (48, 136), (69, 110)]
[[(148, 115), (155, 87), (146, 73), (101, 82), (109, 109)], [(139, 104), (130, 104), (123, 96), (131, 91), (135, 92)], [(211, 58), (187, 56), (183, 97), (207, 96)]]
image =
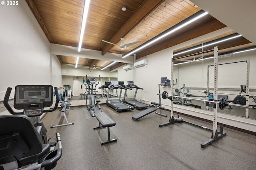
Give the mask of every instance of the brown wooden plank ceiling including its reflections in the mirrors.
[[(50, 43), (78, 47), (84, 0), (26, 0), (26, 2)], [(127, 8), (125, 12), (122, 11), (123, 6)], [(107, 52), (125, 54), (200, 10), (189, 0), (90, 0), (82, 48), (102, 51), (102, 55)], [(136, 57), (137, 59), (144, 57), (224, 27), (226, 27), (224, 24), (207, 14), (175, 34), (139, 51)], [(209, 41), (234, 33), (213, 37)], [(124, 43), (141, 42), (121, 49), (118, 46), (121, 44), (120, 38), (124, 38)], [(223, 47), (218, 45), (219, 49), (231, 51), (255, 46), (244, 38), (228, 44), (230, 45)], [(191, 46), (194, 45), (197, 44)], [(57, 57), (61, 64), (76, 63), (76, 57), (64, 55)], [(104, 67), (110, 62), (79, 59), (78, 65), (95, 69)], [(122, 64), (124, 63), (119, 63), (119, 66)], [(117, 65), (112, 66), (111, 69), (115, 67)]]

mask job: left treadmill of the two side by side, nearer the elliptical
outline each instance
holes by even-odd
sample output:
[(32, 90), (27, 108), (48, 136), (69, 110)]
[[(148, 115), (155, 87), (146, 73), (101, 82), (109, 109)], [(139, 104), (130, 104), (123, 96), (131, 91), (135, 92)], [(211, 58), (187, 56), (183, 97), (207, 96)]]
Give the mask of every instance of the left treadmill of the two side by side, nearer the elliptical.
[[(127, 87), (123, 87), (118, 84), (118, 81), (111, 81), (111, 84), (108, 86), (108, 95), (107, 95), (107, 100), (106, 100), (106, 105), (111, 107), (117, 112), (122, 112), (122, 111), (130, 111), (134, 110), (133, 106), (126, 105), (123, 103), (120, 98), (122, 94), (122, 89), (126, 89)], [(109, 100), (109, 91), (113, 89), (120, 89), (120, 95), (118, 99), (111, 99)]]

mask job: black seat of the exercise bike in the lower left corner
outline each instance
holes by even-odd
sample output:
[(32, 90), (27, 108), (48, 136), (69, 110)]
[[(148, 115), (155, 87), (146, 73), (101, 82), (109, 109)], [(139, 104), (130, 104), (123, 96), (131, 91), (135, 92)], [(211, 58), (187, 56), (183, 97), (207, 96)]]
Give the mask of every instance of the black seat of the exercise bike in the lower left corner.
[(50, 151), (25, 115), (0, 116), (0, 164), (17, 161), (18, 166), (38, 162)]

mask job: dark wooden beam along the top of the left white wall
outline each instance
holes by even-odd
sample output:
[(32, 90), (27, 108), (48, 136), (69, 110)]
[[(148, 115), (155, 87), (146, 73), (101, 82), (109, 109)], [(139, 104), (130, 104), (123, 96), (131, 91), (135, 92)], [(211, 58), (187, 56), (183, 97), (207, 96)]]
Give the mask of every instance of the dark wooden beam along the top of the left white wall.
[(44, 22), (34, 4), (34, 2), (32, 0), (26, 0), (26, 2), (28, 4), (30, 10), (33, 12), (34, 16), (36, 17), (36, 20), (38, 21), (40, 27), (44, 31), (44, 34), (48, 38), (49, 42), (52, 43), (52, 38), (51, 38), (50, 34), (48, 33), (48, 30), (47, 30), (46, 26), (44, 25)]

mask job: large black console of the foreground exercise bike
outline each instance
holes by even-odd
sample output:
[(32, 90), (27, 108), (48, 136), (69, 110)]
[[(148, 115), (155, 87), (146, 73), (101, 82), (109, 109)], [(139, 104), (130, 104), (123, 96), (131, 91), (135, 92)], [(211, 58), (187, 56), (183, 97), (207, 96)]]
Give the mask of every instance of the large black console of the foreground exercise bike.
[(15, 87), (14, 108), (24, 109), (27, 116), (40, 116), (44, 107), (52, 106), (51, 85), (18, 85)]

